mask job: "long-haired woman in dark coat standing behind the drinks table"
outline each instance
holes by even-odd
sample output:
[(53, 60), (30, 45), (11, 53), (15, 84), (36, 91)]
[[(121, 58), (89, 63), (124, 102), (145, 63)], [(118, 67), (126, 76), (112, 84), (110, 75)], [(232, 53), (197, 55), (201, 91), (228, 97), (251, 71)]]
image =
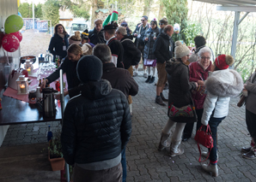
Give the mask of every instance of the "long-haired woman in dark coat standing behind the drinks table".
[(53, 61), (55, 61), (56, 56), (60, 56), (60, 59), (63, 59), (67, 56), (67, 49), (69, 47), (68, 38), (70, 35), (65, 31), (65, 28), (62, 24), (57, 24), (54, 27), (54, 35), (51, 38), (48, 50), (53, 55)]

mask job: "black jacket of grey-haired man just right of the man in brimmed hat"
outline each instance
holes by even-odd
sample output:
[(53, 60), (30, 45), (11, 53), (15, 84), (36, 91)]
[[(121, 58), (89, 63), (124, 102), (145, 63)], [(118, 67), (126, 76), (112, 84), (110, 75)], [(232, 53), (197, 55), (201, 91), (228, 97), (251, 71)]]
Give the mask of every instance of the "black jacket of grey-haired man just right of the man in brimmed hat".
[(130, 68), (131, 65), (137, 65), (141, 58), (140, 50), (133, 44), (129, 36), (125, 35), (120, 41), (124, 48), (123, 63), (125, 69)]

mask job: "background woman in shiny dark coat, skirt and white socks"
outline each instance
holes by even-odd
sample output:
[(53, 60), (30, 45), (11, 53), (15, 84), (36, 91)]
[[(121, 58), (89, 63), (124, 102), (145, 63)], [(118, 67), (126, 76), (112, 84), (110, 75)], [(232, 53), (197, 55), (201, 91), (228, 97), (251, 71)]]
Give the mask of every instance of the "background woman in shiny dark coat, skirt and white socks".
[[(157, 21), (155, 19), (150, 22), (150, 27), (145, 33), (143, 38), (145, 46), (143, 51), (143, 62), (144, 65), (147, 66), (148, 69), (148, 79), (145, 81), (146, 83), (153, 83), (155, 81), (155, 71), (156, 71), (156, 58), (153, 52), (153, 45), (155, 43), (155, 39), (157, 38), (160, 32), (159, 27), (157, 27)], [(152, 73), (151, 73), (152, 70)]]

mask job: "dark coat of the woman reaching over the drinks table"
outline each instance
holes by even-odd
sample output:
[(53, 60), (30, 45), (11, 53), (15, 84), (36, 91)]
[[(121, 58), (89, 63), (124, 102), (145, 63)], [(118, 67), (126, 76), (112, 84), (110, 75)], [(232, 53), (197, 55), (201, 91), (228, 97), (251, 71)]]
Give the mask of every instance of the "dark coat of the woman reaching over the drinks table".
[[(69, 60), (68, 57), (65, 57), (64, 62), (62, 62), (60, 67), (55, 72), (53, 72), (48, 77), (46, 77), (46, 79), (48, 79), (48, 83), (50, 84), (53, 81), (55, 81), (56, 79), (58, 79), (59, 78), (59, 70), (62, 69), (63, 73), (66, 73), (66, 78), (67, 78), (67, 82), (68, 82), (68, 86), (69, 86), (68, 89), (70, 92), (70, 89), (72, 89), (80, 84), (80, 80), (76, 76), (76, 65), (77, 65), (77, 62), (72, 62)], [(70, 95), (70, 93), (69, 93), (69, 95)], [(70, 97), (73, 97), (73, 96), (70, 95)]]

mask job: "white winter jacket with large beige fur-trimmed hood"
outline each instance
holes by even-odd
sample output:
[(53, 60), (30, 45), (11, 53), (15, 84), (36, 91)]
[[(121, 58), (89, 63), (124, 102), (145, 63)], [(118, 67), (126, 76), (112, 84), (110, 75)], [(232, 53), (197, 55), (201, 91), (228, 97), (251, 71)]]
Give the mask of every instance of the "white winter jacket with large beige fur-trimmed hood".
[(222, 118), (229, 114), (230, 97), (241, 93), (243, 80), (233, 69), (224, 69), (210, 73), (205, 81), (207, 96), (204, 101), (202, 124), (208, 125), (210, 117)]

